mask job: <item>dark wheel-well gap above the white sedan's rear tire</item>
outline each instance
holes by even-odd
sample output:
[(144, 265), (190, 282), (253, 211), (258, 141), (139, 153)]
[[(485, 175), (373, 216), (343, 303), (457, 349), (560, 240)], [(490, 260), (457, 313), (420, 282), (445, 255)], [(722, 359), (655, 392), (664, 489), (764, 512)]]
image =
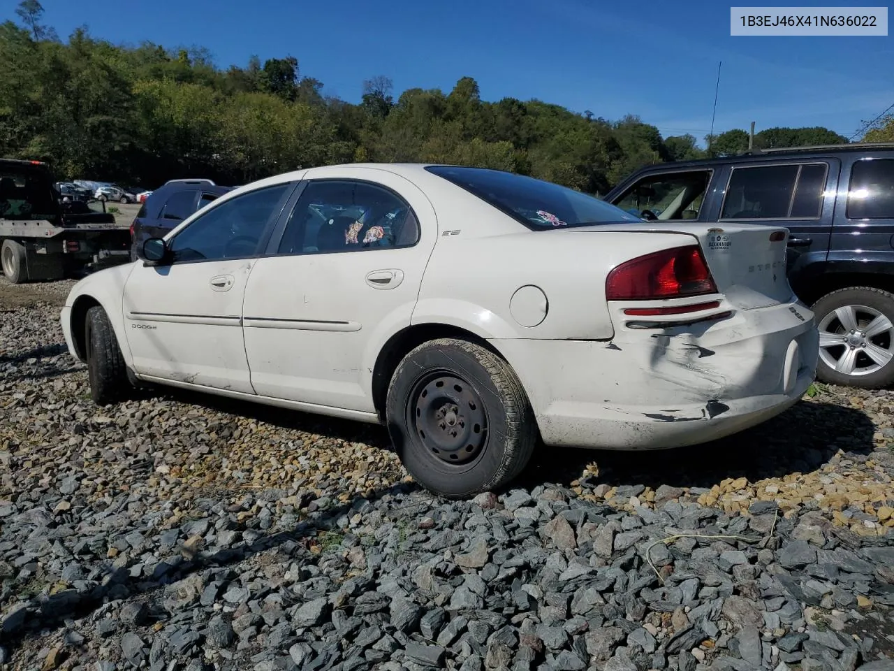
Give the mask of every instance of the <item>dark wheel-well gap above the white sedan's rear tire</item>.
[[(490, 341), (481, 335), (469, 331), (467, 328), (440, 322), (426, 322), (404, 327), (385, 342), (379, 350), (375, 365), (373, 366), (373, 404), (375, 406), (375, 412), (380, 420), (384, 421), (385, 398), (388, 395), (388, 385), (391, 383), (391, 378), (394, 374), (394, 370), (397, 369), (398, 364), (418, 345), (438, 338), (467, 340), (470, 343), (478, 344), (486, 350), (493, 352), (493, 354), (500, 357), (503, 361), (507, 361), (502, 352), (497, 350)], [(507, 363), (509, 363), (509, 361), (507, 361)]]

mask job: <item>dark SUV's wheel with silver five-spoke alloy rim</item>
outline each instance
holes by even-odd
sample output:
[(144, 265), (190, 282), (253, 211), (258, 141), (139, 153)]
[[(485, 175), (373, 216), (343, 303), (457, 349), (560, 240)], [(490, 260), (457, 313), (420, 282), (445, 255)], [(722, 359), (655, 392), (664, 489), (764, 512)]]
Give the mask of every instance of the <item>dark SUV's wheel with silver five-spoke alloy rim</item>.
[[(894, 383), (894, 294), (852, 286), (827, 293), (811, 309), (820, 330), (817, 378), (863, 389)], [(854, 335), (848, 326), (856, 326)]]

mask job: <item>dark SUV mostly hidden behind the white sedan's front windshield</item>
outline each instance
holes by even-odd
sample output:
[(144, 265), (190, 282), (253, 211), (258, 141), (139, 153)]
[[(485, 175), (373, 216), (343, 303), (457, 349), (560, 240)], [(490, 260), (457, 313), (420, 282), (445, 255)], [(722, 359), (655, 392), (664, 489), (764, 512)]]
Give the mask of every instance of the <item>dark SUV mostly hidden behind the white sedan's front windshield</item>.
[(138, 245), (164, 237), (183, 219), (233, 188), (197, 179), (171, 181), (152, 191), (131, 224), (131, 260), (137, 259)]

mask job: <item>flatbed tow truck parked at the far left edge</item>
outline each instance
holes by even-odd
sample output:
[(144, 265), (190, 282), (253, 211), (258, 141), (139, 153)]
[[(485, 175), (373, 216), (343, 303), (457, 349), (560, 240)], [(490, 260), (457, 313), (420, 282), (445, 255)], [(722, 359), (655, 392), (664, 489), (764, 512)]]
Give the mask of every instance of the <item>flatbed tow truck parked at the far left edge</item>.
[(41, 161), (0, 158), (0, 266), (13, 284), (81, 276), (131, 260), (114, 215), (65, 201)]

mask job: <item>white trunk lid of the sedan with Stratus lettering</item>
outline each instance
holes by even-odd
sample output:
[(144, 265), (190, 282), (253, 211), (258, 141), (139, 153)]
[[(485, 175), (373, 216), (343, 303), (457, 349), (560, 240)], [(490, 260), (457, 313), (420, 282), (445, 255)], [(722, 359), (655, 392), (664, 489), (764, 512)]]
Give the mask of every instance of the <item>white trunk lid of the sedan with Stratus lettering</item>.
[[(782, 226), (757, 224), (611, 224), (572, 231), (684, 234), (696, 238), (717, 289), (741, 310), (788, 302), (792, 297), (786, 275), (789, 232)], [(772, 239), (776, 234), (777, 240)], [(681, 245), (683, 242), (681, 241)]]

